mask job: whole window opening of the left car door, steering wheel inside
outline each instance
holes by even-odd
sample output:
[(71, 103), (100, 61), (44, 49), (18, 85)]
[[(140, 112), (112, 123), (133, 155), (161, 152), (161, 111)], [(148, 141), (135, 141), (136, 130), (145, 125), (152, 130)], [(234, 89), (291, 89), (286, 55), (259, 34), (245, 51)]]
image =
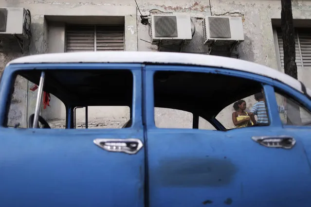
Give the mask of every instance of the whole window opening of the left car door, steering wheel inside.
[(7, 113), (8, 127), (29, 127), (29, 118), (35, 113), (40, 77), (44, 77), (40, 117), (51, 128), (66, 128), (66, 120), (72, 120), (68, 128), (76, 129), (131, 126), (131, 70), (55, 69), (44, 72), (42, 75), (40, 70), (18, 71)]

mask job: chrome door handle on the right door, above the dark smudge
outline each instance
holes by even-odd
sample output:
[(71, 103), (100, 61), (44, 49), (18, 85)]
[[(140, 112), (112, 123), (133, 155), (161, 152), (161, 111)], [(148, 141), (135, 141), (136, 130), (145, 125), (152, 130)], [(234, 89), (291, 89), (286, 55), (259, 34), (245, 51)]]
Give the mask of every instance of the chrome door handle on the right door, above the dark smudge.
[(289, 136), (259, 136), (252, 139), (266, 147), (292, 149), (296, 144), (296, 140)]

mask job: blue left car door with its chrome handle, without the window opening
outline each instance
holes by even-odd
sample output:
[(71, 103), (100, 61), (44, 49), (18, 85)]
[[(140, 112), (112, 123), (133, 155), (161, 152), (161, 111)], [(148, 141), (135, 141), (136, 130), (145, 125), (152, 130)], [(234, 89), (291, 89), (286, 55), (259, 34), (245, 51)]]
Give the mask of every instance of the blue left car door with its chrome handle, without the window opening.
[[(1, 126), (0, 206), (143, 207), (145, 153), (140, 64), (11, 65), (4, 71), (2, 80), (6, 81), (0, 86), (2, 121), (7, 116), (6, 103), (14, 73), (33, 68), (129, 70), (133, 79), (132, 125), (118, 129)], [(118, 150), (124, 143), (137, 144), (140, 150), (137, 153)]]

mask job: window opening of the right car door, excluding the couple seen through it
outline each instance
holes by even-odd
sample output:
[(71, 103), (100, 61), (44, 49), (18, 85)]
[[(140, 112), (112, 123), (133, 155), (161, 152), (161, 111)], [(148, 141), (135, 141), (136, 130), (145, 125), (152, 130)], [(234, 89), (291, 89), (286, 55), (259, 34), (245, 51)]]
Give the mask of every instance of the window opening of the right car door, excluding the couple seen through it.
[[(225, 128), (235, 128), (232, 104), (245, 99), (248, 106), (245, 112), (249, 114), (257, 103), (254, 95), (261, 93), (261, 89), (260, 82), (230, 75), (157, 71), (154, 74), (154, 105), (166, 106), (165, 108), (174, 111), (155, 110), (156, 126), (162, 124), (166, 128), (191, 128), (192, 113), (200, 116), (199, 129), (215, 130), (215, 126), (211, 124), (215, 117)], [(258, 116), (260, 113), (256, 111), (254, 119)]]

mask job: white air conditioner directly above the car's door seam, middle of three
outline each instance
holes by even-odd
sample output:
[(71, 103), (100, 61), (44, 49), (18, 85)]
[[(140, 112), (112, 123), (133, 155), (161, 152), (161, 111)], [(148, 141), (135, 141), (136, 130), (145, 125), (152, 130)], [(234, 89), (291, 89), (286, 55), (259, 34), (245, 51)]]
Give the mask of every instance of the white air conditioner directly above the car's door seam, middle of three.
[(189, 15), (151, 15), (152, 45), (188, 44), (192, 39)]

